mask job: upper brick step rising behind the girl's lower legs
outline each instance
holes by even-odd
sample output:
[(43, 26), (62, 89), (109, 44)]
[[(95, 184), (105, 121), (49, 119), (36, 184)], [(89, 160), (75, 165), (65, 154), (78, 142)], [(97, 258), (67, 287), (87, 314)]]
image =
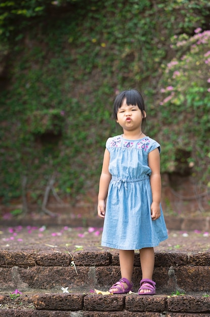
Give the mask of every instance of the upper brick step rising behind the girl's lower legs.
[[(75, 266), (73, 266), (73, 263)], [(76, 268), (76, 269), (75, 269)], [(210, 252), (193, 255), (156, 253), (153, 280), (157, 292), (210, 292)], [(1, 291), (107, 290), (120, 279), (119, 257), (110, 252), (38, 254), (0, 251)], [(135, 254), (134, 290), (139, 288), (141, 267)]]

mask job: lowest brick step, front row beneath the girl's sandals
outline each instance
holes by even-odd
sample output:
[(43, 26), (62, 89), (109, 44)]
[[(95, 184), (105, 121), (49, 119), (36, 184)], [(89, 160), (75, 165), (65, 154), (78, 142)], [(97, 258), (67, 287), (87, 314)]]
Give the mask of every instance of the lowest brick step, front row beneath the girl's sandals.
[(139, 296), (96, 294), (0, 295), (1, 317), (209, 317), (210, 299), (201, 295)]

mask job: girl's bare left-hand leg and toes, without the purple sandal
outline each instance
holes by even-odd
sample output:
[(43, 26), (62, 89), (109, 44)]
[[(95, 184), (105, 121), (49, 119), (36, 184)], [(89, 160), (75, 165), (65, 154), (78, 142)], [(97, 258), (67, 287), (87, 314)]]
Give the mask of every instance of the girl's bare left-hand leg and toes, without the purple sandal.
[[(119, 250), (119, 264), (121, 278), (128, 279), (129, 282), (132, 281), (132, 274), (134, 268), (134, 250)], [(123, 283), (124, 288), (127, 289), (128, 285)], [(117, 289), (111, 288), (110, 292), (116, 292)]]

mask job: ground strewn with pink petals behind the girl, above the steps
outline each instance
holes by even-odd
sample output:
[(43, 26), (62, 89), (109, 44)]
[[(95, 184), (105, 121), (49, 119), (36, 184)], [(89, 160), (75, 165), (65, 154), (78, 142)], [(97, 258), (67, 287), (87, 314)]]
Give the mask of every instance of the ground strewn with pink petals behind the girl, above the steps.
[[(110, 251), (101, 247), (101, 227), (14, 226), (0, 227), (0, 250), (37, 253)], [(161, 242), (155, 252), (194, 254), (210, 251), (210, 233), (198, 230), (169, 231), (169, 239)]]

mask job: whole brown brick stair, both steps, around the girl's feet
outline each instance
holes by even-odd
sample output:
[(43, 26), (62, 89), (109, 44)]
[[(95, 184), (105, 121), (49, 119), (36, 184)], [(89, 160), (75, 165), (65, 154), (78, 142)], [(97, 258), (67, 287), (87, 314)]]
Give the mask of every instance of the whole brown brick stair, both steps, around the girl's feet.
[[(136, 253), (134, 292), (140, 277)], [(0, 316), (210, 317), (210, 252), (156, 253), (155, 296), (92, 293), (107, 291), (119, 278), (117, 253), (75, 252), (72, 257), (60, 252), (0, 251)], [(23, 294), (11, 298), (16, 289)], [(185, 295), (172, 296), (173, 292)]]

